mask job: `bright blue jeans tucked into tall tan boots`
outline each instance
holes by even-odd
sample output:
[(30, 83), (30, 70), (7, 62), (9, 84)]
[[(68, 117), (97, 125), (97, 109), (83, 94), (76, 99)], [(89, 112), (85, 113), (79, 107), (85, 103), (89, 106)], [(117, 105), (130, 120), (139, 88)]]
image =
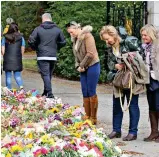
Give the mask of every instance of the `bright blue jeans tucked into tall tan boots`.
[(96, 95), (96, 87), (100, 75), (100, 63), (90, 66), (85, 72), (80, 73), (83, 97)]

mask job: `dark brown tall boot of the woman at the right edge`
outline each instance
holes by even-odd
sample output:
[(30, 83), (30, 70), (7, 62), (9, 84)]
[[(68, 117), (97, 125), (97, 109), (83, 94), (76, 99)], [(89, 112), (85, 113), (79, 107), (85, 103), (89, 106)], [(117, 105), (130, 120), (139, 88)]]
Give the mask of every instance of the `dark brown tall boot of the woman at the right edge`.
[(153, 141), (159, 136), (157, 112), (150, 111), (149, 116), (150, 116), (150, 124), (151, 124), (151, 134), (147, 138), (144, 138), (144, 141), (146, 142)]

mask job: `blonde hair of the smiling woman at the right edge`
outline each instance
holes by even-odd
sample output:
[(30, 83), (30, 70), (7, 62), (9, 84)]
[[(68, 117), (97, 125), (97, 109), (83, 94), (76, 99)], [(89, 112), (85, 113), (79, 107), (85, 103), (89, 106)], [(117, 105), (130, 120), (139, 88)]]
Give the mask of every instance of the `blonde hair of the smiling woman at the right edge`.
[(157, 28), (151, 24), (147, 24), (147, 25), (143, 26), (140, 29), (140, 34), (142, 33), (142, 31), (146, 31), (146, 33), (152, 39), (152, 41), (155, 41), (158, 38), (159, 32), (158, 32)]

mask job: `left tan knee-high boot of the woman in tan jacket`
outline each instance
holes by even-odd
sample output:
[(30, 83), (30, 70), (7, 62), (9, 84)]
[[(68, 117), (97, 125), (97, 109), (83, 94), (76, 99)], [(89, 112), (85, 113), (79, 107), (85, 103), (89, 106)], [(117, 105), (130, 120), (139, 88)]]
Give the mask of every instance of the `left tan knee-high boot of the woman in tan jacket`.
[(91, 107), (90, 107), (90, 99), (88, 98), (83, 98), (83, 107), (85, 109), (86, 115), (83, 117), (83, 119), (89, 119), (91, 115)]

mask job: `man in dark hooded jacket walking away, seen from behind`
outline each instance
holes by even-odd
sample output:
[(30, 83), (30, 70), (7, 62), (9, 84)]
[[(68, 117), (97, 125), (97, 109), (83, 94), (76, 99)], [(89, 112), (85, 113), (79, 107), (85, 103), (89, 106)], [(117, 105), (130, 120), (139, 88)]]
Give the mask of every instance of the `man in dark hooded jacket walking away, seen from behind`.
[(37, 63), (44, 82), (42, 96), (54, 98), (51, 78), (57, 60), (57, 50), (65, 46), (66, 41), (61, 29), (52, 22), (49, 13), (42, 15), (42, 24), (34, 29), (29, 37), (28, 44), (37, 53)]

